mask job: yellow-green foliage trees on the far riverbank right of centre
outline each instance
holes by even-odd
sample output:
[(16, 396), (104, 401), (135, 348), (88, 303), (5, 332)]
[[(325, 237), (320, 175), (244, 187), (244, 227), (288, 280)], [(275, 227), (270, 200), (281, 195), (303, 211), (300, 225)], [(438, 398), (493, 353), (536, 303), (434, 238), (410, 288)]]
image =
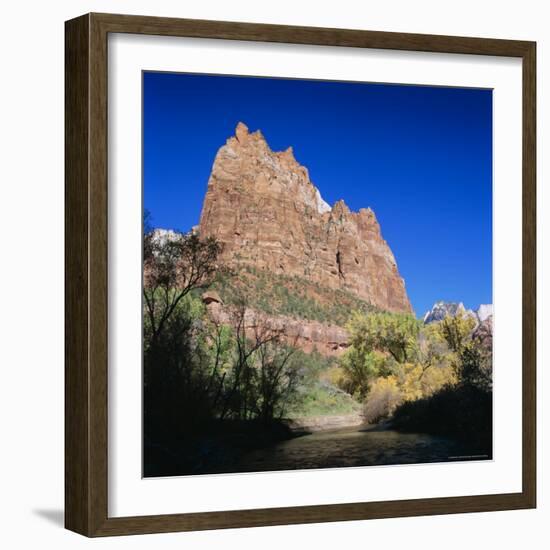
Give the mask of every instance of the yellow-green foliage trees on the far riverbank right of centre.
[(356, 313), (340, 360), (343, 387), (365, 401), (369, 422), (389, 417), (401, 403), (457, 383), (456, 365), (473, 327), (467, 316), (422, 326), (406, 314)]

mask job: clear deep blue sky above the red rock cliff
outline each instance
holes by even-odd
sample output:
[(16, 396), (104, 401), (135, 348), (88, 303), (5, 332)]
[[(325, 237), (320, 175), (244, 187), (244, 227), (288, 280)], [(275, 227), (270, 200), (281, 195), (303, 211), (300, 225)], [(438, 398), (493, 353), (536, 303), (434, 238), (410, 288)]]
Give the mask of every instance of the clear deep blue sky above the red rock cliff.
[(323, 198), (370, 206), (417, 315), (492, 302), (492, 92), (144, 73), (144, 207), (199, 221), (217, 150), (238, 121), (294, 148)]

